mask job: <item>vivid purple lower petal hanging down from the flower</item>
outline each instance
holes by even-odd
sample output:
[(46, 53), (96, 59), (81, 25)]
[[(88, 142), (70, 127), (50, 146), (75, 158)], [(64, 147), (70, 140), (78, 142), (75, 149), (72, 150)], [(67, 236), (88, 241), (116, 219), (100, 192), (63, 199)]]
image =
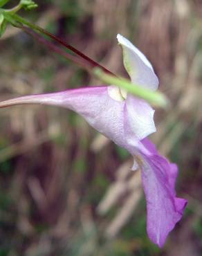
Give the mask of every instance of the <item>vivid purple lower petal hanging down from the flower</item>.
[(148, 150), (147, 154), (142, 154), (142, 179), (147, 201), (147, 233), (154, 244), (162, 247), (169, 232), (180, 221), (187, 201), (176, 197), (176, 165), (160, 156), (148, 139), (143, 140), (143, 144)]

